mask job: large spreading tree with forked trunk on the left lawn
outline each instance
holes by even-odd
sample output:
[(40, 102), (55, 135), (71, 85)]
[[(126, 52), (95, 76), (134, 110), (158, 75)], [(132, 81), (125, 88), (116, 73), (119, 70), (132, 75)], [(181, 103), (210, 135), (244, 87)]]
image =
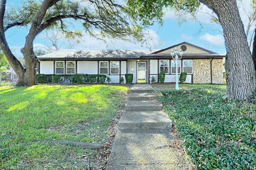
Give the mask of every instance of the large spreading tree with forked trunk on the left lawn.
[[(90, 36), (142, 40), (142, 27), (132, 24), (126, 8), (115, 0), (28, 0), (18, 8), (6, 8), (6, 2), (0, 0), (0, 47), (18, 75), (17, 86), (36, 84), (37, 57), (33, 41), (45, 29), (58, 26), (72, 38), (68, 24), (73, 20), (79, 21)], [(26, 68), (14, 56), (5, 38), (6, 30), (22, 26), (30, 28), (21, 49)]]

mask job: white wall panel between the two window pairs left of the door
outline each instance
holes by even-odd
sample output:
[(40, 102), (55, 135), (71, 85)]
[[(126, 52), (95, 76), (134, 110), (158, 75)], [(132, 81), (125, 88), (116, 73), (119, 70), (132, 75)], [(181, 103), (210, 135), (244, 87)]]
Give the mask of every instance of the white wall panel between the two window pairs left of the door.
[(97, 74), (98, 61), (77, 61), (77, 73)]

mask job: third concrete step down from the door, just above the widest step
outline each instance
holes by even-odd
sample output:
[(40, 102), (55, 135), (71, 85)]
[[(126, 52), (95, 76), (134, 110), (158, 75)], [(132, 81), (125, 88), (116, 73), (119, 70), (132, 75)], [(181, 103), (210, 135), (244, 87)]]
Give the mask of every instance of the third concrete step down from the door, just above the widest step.
[(125, 105), (126, 111), (160, 111), (162, 108), (158, 101), (127, 101)]

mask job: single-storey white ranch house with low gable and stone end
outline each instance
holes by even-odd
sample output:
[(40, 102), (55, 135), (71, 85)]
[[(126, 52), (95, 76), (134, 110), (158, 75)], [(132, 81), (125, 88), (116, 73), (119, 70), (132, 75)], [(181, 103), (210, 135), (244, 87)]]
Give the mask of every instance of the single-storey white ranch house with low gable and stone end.
[[(110, 83), (119, 83), (126, 73), (133, 74), (132, 83), (150, 83), (154, 76), (165, 73), (164, 82), (176, 81), (176, 62), (172, 49), (182, 49), (178, 60), (178, 75), (186, 72), (184, 83), (223, 84), (223, 59), (220, 55), (188, 42), (172, 45), (159, 51), (146, 50), (60, 50), (38, 56), (40, 74), (106, 74)], [(179, 54), (178, 54), (179, 55)], [(125, 81), (124, 81), (125, 82)]]

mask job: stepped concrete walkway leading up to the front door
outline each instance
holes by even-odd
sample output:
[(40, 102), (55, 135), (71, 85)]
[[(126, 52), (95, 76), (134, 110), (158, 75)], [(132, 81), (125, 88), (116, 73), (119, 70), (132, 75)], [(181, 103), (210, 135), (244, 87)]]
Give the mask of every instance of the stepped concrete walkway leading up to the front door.
[(191, 165), (173, 143), (172, 121), (162, 112), (149, 84), (130, 90), (106, 170), (189, 170)]

